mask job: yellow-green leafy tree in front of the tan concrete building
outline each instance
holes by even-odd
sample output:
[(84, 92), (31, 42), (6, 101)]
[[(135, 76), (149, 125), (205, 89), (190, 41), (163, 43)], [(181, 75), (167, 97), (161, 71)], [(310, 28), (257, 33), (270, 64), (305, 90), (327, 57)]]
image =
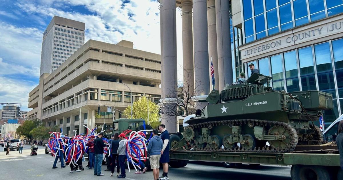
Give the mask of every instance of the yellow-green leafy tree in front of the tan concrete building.
[[(146, 124), (148, 119), (148, 112), (147, 112), (147, 98), (141, 97), (138, 101), (135, 101), (132, 106), (132, 118), (133, 119), (145, 119)], [(160, 124), (159, 122), (159, 115), (158, 115), (159, 108), (156, 103), (149, 101), (149, 125), (152, 128), (158, 127)], [(131, 118), (131, 106), (128, 106), (124, 111), (123, 115)]]

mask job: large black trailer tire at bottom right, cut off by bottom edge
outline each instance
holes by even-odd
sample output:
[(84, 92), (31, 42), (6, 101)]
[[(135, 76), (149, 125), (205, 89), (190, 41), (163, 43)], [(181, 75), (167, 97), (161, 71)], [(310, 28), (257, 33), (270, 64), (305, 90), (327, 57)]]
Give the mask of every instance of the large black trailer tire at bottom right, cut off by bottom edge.
[(292, 180), (332, 180), (332, 174), (325, 166), (293, 165)]

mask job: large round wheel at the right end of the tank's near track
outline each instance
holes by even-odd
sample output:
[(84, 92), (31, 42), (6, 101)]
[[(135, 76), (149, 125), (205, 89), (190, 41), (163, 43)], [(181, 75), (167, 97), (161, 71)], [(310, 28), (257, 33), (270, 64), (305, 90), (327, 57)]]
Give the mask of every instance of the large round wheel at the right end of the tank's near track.
[(268, 135), (283, 135), (286, 136), (284, 140), (269, 140), (268, 143), (275, 149), (287, 149), (293, 143), (292, 133), (287, 131), (285, 127), (274, 125), (268, 131)]

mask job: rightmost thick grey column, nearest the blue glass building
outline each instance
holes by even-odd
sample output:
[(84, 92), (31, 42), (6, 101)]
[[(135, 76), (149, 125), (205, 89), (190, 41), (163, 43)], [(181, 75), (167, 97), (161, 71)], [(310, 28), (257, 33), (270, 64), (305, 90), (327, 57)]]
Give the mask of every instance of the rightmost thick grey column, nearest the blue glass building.
[(233, 83), (231, 37), (229, 20), (229, 1), (216, 0), (216, 27), (218, 48), (219, 90)]

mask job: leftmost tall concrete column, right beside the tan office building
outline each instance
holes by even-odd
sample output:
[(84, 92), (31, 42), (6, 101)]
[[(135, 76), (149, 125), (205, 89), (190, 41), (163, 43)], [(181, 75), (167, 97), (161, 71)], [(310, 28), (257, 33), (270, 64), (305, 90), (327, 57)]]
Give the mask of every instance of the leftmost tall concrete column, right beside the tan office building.
[[(164, 1), (162, 10), (163, 32), (163, 97), (176, 98), (177, 88), (177, 54), (176, 54), (176, 0)], [(171, 104), (173, 102), (167, 103)], [(165, 107), (168, 107), (165, 105)], [(173, 106), (169, 106), (173, 107)], [(162, 123), (169, 132), (176, 132), (176, 117), (163, 116)]]

